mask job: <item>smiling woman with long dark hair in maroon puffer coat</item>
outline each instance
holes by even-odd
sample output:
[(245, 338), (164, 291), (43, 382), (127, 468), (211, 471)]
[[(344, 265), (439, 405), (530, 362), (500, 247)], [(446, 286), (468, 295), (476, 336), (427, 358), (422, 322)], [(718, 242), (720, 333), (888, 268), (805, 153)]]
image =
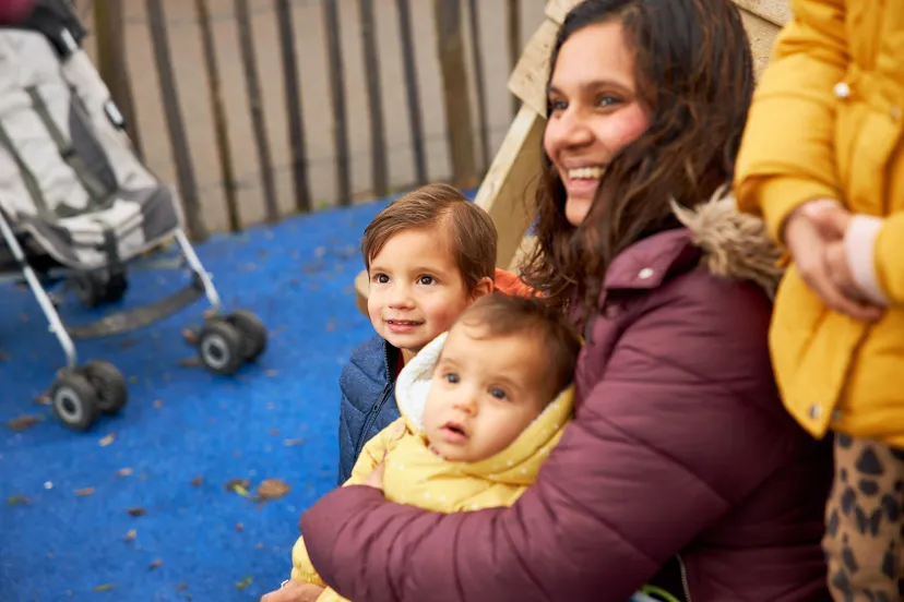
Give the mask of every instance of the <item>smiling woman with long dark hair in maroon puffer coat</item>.
[(377, 486), (324, 496), (301, 527), (340, 593), (623, 602), (654, 585), (686, 602), (826, 599), (831, 446), (775, 390), (763, 288), (777, 255), (762, 222), (706, 203), (733, 177), (751, 65), (729, 0), (571, 11), (525, 274), (585, 333), (574, 421), (511, 508), (390, 504), (379, 471)]

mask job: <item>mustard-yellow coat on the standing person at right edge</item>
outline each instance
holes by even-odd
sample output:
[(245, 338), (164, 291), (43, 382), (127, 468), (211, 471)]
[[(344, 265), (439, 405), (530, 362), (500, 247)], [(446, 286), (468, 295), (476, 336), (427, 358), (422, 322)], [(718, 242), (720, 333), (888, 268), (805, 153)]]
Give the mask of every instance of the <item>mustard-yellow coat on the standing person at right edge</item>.
[(875, 0), (792, 0), (737, 165), (739, 206), (778, 239), (819, 197), (884, 218), (873, 265), (890, 310), (875, 325), (831, 312), (795, 266), (776, 297), (771, 346), (790, 413), (904, 447), (904, 10)]

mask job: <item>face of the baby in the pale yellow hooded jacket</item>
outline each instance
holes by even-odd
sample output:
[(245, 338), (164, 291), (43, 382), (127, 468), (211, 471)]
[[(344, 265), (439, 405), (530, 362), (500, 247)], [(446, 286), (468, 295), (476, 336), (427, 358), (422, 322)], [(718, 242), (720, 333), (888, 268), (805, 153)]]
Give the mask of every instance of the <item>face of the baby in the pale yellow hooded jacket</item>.
[(550, 397), (543, 348), (530, 335), (481, 337), (459, 323), (449, 333), (424, 409), (430, 448), (447, 460), (476, 462), (511, 445)]

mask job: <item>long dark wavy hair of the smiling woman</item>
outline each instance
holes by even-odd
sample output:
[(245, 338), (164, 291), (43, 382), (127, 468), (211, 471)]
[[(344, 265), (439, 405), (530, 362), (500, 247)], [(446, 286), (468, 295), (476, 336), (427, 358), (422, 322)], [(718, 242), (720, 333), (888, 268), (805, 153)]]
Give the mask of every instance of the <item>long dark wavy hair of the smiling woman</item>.
[[(618, 20), (635, 51), (639, 100), (649, 130), (610, 161), (580, 227), (566, 219), (566, 191), (543, 153), (537, 245), (525, 280), (584, 321), (599, 311), (606, 269), (621, 251), (674, 227), (669, 200), (691, 207), (731, 181), (753, 94), (753, 59), (730, 0), (585, 0), (559, 29), (562, 45), (590, 25)], [(549, 107), (547, 107), (549, 113)]]

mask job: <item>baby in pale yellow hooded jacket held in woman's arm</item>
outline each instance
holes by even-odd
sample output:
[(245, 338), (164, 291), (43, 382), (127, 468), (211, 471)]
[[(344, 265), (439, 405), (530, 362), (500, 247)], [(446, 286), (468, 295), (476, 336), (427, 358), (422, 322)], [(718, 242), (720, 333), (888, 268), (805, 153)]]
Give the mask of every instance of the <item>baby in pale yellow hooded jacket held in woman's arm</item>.
[[(571, 416), (580, 347), (539, 301), (475, 301), (402, 370), (402, 417), (368, 442), (346, 484), (382, 461), (383, 492), (400, 504), (445, 513), (513, 504)], [(302, 538), (293, 566), (293, 580), (323, 585)], [(329, 588), (318, 598), (336, 600)]]

